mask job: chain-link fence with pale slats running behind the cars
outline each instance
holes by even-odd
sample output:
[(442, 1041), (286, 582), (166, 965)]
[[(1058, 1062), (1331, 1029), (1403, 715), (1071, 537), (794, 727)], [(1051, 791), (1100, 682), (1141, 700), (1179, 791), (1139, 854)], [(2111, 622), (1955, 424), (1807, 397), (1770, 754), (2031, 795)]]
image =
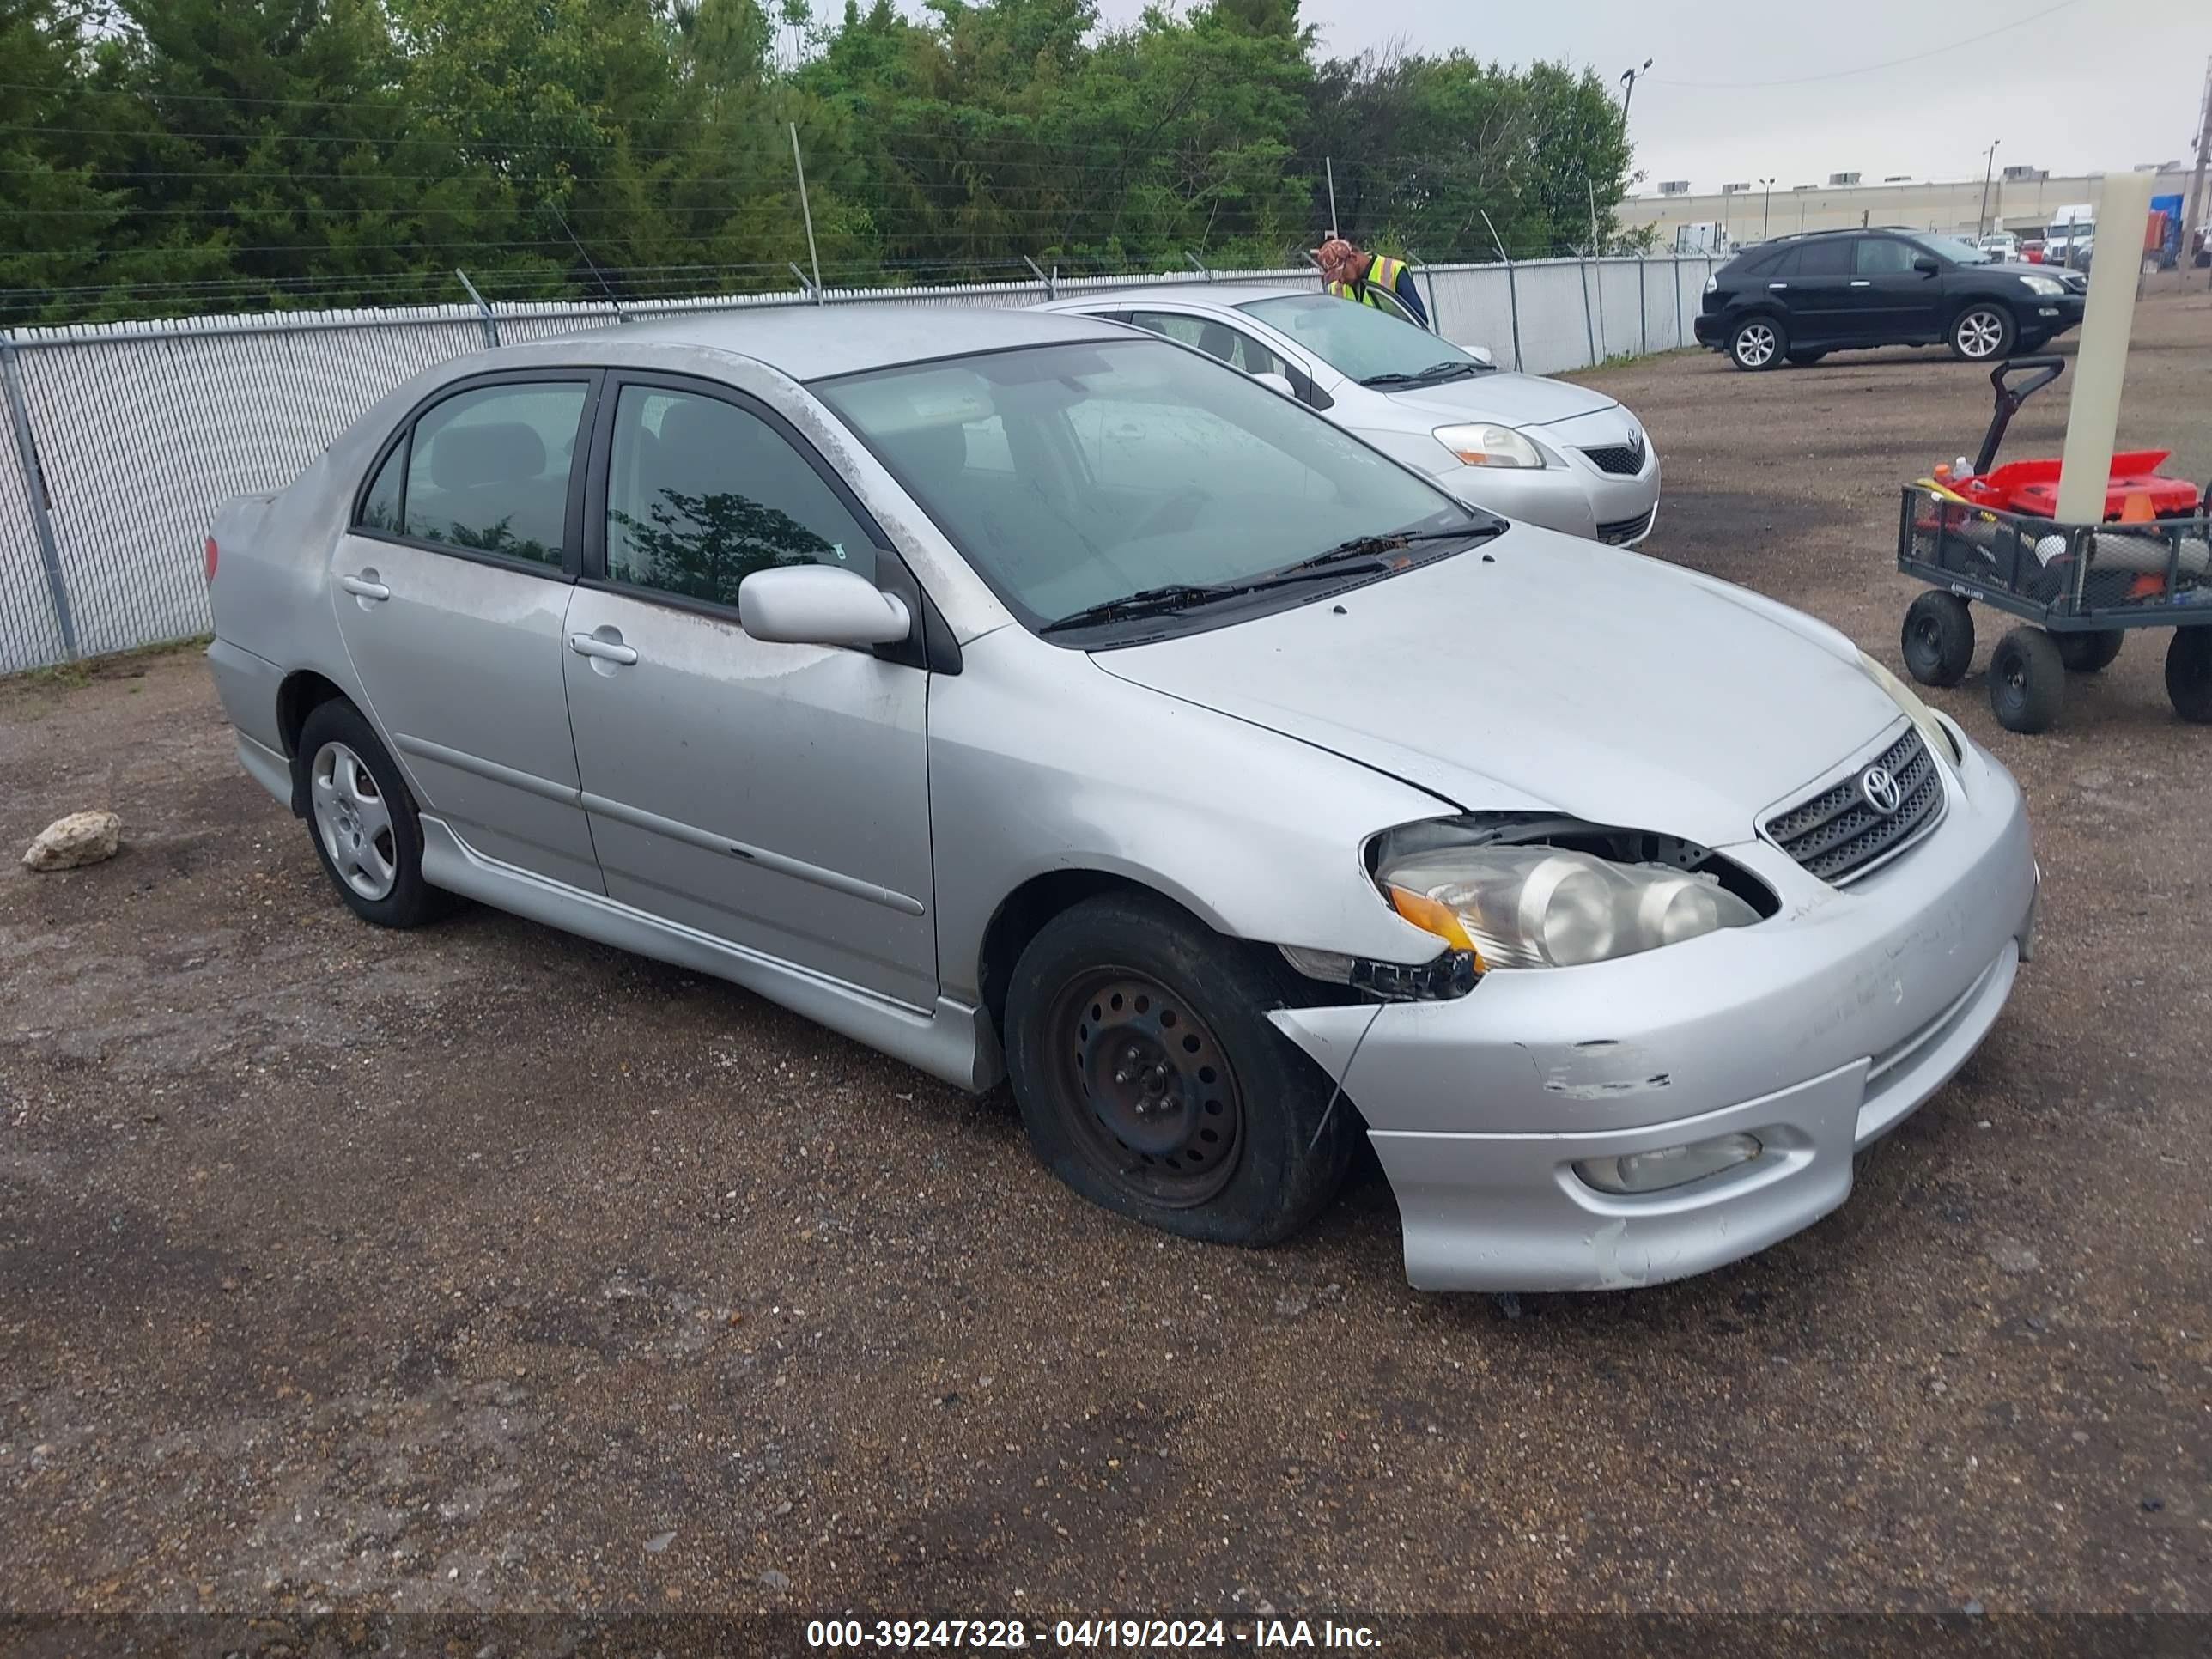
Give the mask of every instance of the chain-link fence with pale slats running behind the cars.
[[(1714, 261), (1427, 265), (1438, 334), (1531, 374), (1690, 343)], [(781, 305), (1035, 305), (1161, 276), (653, 301), (628, 316)], [(1312, 270), (1190, 281), (1314, 283)], [(608, 327), (606, 303), (204, 316), (0, 334), (0, 675), (208, 628), (201, 546), (230, 495), (290, 482), (372, 403), (484, 347)]]

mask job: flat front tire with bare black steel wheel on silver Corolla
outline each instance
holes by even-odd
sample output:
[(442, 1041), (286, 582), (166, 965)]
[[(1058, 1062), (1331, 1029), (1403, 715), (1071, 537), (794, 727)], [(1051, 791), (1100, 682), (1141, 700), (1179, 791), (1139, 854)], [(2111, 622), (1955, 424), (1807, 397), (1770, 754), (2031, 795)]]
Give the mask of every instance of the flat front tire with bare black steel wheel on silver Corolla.
[(1267, 1022), (1283, 1002), (1263, 958), (1166, 900), (1062, 911), (1006, 993), (1029, 1144), (1115, 1214), (1208, 1243), (1287, 1239), (1336, 1197), (1358, 1126)]

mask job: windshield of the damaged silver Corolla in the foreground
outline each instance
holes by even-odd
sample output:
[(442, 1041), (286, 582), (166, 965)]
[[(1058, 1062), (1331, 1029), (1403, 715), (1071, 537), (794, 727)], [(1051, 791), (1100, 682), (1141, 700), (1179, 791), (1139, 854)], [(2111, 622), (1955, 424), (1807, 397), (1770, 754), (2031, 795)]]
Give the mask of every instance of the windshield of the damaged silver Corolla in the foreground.
[(1248, 582), (1363, 535), (1495, 524), (1166, 341), (916, 363), (812, 392), (1031, 628), (1150, 588)]

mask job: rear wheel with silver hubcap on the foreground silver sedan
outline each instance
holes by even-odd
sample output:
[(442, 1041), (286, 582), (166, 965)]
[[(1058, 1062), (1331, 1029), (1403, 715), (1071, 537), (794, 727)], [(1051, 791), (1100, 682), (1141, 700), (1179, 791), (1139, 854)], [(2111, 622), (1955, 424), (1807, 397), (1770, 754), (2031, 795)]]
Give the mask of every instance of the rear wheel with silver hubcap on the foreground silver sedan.
[(453, 900), (422, 880), (422, 818), (392, 752), (343, 699), (307, 714), (292, 759), (307, 836), (347, 909), (376, 927), (420, 927)]

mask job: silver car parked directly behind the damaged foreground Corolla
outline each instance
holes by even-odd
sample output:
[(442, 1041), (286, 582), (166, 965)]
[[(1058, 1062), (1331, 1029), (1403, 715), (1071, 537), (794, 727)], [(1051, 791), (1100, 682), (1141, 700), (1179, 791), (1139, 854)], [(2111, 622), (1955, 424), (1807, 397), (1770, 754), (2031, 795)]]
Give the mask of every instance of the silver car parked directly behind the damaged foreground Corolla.
[(1115, 288), (1040, 310), (1135, 323), (1321, 409), (1464, 502), (1617, 546), (1659, 511), (1659, 451), (1601, 392), (1509, 374), (1312, 288)]

